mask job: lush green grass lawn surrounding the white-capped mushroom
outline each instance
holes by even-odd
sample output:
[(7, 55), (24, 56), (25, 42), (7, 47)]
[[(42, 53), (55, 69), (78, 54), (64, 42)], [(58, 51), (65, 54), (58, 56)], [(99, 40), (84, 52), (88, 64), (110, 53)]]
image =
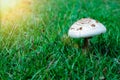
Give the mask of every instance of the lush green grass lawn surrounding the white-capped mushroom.
[[(29, 8), (1, 24), (0, 80), (120, 80), (119, 0), (34, 0)], [(107, 28), (90, 40), (86, 56), (83, 39), (67, 36), (83, 17)]]

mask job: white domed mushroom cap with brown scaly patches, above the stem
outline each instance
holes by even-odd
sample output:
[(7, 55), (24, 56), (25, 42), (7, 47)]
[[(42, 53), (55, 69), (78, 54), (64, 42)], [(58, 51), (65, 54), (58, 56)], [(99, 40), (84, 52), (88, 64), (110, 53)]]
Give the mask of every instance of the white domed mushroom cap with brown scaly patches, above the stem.
[(100, 22), (91, 18), (82, 18), (70, 27), (68, 36), (72, 38), (87, 38), (105, 32), (106, 28)]

